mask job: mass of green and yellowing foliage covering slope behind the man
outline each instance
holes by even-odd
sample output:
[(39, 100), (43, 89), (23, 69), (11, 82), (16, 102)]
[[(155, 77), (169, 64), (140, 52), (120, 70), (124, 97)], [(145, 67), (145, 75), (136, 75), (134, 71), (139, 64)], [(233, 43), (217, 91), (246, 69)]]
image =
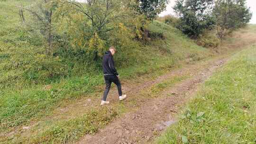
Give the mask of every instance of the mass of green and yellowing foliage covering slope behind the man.
[[(0, 93), (100, 73), (101, 57), (111, 45), (119, 52), (117, 66), (144, 63), (141, 27), (149, 22), (135, 6), (134, 0), (1, 1)], [(148, 39), (163, 37), (163, 30), (147, 32)]]

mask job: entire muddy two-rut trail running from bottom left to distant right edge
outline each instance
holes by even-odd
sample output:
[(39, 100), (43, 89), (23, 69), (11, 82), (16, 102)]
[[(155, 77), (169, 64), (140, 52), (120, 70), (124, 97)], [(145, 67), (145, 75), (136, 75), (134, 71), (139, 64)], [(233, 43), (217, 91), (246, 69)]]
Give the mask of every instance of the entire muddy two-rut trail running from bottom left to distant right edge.
[[(235, 52), (256, 43), (256, 36), (249, 29), (236, 34), (239, 39), (232, 45), (224, 44), (230, 51), (198, 62), (188, 61), (182, 68), (172, 67), (163, 75), (143, 75), (136, 80), (122, 82), (122, 90), (128, 98), (119, 102), (116, 86), (112, 85), (108, 99), (110, 104), (106, 108), (125, 108), (125, 111), (115, 118), (109, 125), (92, 135), (84, 135), (77, 144), (148, 144), (151, 143), (167, 126), (175, 123), (177, 113), (185, 102), (198, 90), (201, 83), (207, 80)], [(247, 38), (246, 38), (247, 37)], [(177, 63), (179, 65), (179, 63)], [(178, 78), (178, 81), (173, 81)], [(173, 81), (171, 85), (157, 91), (153, 96), (152, 88), (157, 84)], [(61, 107), (56, 108), (47, 117), (32, 120), (28, 126), (17, 126), (9, 129), (2, 136), (27, 137), (37, 135), (43, 129), (59, 121), (67, 121), (81, 117), (92, 109), (100, 109), (101, 96), (104, 86), (81, 99), (63, 101)], [(49, 125), (50, 124), (50, 125)], [(0, 135), (0, 136), (1, 136)]]

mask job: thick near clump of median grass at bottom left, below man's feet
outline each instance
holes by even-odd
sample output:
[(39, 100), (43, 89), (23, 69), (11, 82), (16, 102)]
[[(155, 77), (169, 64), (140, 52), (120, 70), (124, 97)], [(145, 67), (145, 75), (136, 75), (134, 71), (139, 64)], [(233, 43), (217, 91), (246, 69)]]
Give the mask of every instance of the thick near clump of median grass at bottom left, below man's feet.
[(59, 121), (36, 135), (31, 130), (32, 135), (29, 137), (18, 133), (14, 138), (6, 137), (3, 144), (67, 144), (78, 140), (85, 134), (94, 134), (102, 126), (107, 125), (117, 116), (117, 111), (111, 108), (99, 108), (88, 111), (82, 117), (76, 117), (67, 121)]

